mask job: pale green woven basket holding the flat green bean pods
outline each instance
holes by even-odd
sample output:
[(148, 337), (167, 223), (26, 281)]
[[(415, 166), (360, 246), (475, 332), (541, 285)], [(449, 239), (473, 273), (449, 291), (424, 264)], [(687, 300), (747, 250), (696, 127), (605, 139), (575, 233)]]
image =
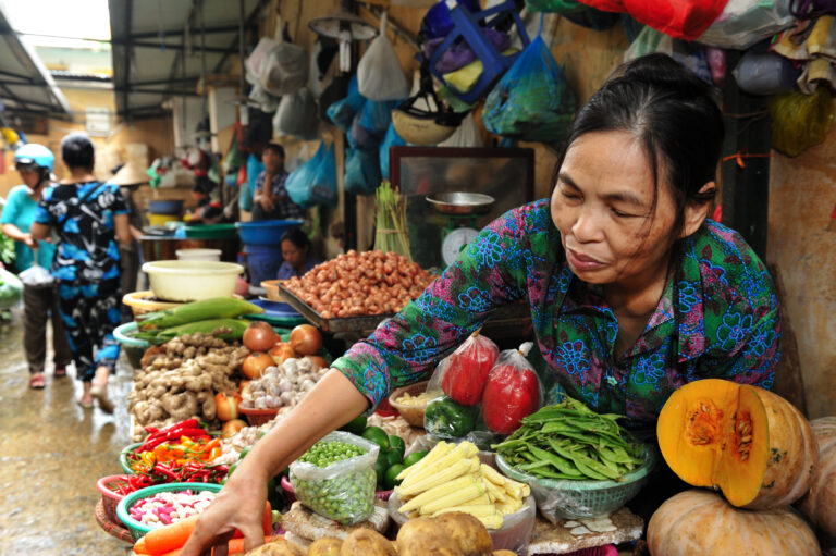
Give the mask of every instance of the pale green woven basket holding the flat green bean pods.
[(550, 521), (611, 514), (627, 504), (644, 486), (656, 465), (656, 453), (644, 447), (644, 462), (622, 481), (573, 481), (539, 479), (514, 469), (501, 455), (496, 466), (511, 479), (527, 483), (540, 512)]

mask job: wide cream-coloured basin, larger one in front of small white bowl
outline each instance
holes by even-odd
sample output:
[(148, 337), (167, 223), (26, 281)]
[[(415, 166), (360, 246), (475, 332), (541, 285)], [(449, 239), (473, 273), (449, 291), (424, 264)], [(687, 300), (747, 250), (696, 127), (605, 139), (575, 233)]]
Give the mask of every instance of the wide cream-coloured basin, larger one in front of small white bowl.
[(155, 297), (167, 301), (199, 301), (231, 296), (244, 267), (218, 261), (153, 261), (143, 264)]

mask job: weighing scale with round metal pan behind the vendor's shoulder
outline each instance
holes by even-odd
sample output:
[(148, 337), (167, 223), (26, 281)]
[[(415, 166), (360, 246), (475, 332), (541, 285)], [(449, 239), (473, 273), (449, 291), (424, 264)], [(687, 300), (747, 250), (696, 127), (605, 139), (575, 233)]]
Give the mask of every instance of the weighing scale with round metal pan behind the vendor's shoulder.
[(446, 217), (447, 227), (442, 232), (441, 258), (453, 264), (458, 254), (479, 234), (476, 220), (491, 210), (494, 198), (480, 193), (441, 193), (428, 195), (427, 202)]

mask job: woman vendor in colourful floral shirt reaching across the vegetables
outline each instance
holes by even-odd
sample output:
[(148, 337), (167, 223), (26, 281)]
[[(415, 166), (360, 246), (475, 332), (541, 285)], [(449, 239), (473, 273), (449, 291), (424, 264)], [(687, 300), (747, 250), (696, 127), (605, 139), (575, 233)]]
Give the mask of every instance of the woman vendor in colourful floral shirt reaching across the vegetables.
[(428, 376), (496, 306), (525, 299), (540, 353), (571, 396), (652, 427), (687, 382), (770, 388), (778, 301), (746, 242), (706, 214), (721, 112), (663, 54), (623, 66), (576, 115), (551, 200), (495, 220), (401, 313), (353, 346), (249, 452), (181, 553), (241, 529), (262, 542), (266, 485), (317, 440)]

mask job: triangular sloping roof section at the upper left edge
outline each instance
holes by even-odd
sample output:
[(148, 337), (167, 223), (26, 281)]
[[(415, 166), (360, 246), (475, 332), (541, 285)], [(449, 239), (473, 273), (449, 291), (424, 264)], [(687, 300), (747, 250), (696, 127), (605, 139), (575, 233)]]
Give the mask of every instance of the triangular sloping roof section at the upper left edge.
[(8, 112), (69, 118), (70, 104), (35, 52), (12, 29), (0, 4), (0, 99)]

